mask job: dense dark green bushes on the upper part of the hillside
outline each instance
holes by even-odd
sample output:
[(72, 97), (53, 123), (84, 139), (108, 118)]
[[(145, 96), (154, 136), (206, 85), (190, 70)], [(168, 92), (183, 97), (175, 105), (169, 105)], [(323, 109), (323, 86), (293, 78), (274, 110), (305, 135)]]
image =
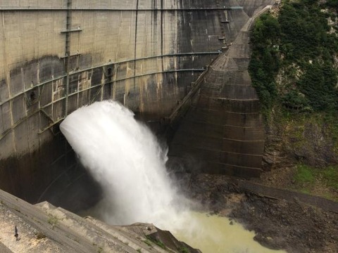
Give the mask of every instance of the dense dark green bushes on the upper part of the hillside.
[(263, 108), (338, 110), (338, 27), (328, 25), (336, 17), (327, 11), (337, 4), (284, 1), (278, 15), (256, 20), (249, 71)]

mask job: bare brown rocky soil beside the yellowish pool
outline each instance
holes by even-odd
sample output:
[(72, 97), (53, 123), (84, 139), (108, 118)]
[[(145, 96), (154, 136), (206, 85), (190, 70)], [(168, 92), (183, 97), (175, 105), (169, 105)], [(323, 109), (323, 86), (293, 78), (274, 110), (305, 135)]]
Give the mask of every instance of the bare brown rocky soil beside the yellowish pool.
[[(268, 181), (273, 177), (265, 176)], [(283, 177), (287, 180), (289, 176), (285, 173)], [(202, 209), (241, 222), (256, 232), (255, 240), (265, 247), (299, 253), (338, 252), (337, 213), (297, 200), (287, 202), (247, 193), (226, 176), (185, 175), (187, 179), (189, 183), (184, 184), (188, 186), (187, 195), (201, 202)]]

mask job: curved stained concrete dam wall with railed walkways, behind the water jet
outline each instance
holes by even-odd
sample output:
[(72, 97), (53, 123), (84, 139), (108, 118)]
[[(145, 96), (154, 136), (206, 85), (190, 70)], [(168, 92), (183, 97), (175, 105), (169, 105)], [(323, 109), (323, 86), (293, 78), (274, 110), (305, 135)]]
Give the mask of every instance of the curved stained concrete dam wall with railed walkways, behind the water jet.
[(0, 188), (55, 205), (72, 193), (76, 209), (94, 183), (75, 166), (58, 124), (82, 105), (113, 99), (160, 129), (270, 2), (1, 1)]

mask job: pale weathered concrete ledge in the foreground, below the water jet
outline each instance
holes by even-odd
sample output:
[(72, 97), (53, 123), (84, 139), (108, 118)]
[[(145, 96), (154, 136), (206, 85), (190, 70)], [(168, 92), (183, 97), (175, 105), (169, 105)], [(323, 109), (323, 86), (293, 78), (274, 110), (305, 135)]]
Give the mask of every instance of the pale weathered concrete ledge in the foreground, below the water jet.
[(150, 223), (110, 226), (49, 202), (30, 205), (3, 190), (0, 190), (0, 223), (1, 253), (201, 253)]

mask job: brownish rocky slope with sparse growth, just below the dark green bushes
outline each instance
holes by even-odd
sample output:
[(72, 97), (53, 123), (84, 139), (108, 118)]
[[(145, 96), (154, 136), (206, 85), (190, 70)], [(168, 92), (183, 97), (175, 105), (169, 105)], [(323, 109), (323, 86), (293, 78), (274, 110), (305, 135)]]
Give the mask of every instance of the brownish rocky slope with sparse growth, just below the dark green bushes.
[(285, 117), (273, 112), (265, 126), (263, 169), (269, 171), (303, 162), (311, 167), (337, 164), (337, 141), (325, 115)]

